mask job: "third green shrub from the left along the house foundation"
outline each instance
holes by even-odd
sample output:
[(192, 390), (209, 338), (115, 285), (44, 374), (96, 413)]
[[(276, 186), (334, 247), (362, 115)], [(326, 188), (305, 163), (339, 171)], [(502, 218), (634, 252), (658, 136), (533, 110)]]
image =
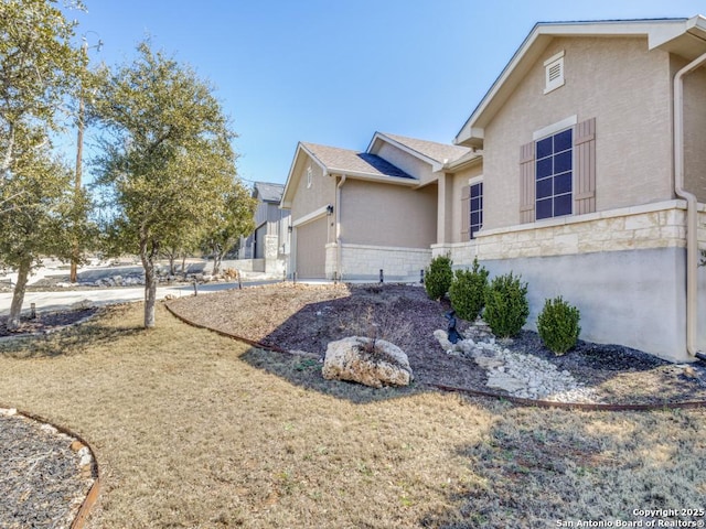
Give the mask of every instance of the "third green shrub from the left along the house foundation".
[(530, 315), (527, 283), (512, 272), (494, 278), (485, 291), (483, 320), (499, 338), (520, 334)]

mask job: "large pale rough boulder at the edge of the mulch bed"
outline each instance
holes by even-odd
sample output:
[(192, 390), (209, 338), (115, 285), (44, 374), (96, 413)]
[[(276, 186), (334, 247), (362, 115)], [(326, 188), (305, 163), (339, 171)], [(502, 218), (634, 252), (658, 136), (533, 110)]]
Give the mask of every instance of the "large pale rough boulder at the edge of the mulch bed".
[(349, 380), (373, 388), (408, 386), (414, 379), (407, 355), (395, 344), (353, 336), (329, 343), (321, 369), (328, 380)]

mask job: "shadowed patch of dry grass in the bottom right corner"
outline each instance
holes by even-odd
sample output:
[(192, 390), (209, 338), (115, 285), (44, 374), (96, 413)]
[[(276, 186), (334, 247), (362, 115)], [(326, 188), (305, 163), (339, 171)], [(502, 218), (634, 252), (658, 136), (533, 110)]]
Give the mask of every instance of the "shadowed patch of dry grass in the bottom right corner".
[[(697, 527), (698, 512), (664, 506), (703, 505), (706, 449), (698, 432), (705, 420), (702, 411), (575, 413), (507, 406), (486, 439), (458, 447), (478, 479), (449, 494), (454, 508), (430, 511), (419, 526), (500, 529), (595, 520), (617, 527), (621, 520), (640, 523), (623, 527), (651, 527), (648, 520), (655, 520), (662, 525), (652, 527)], [(644, 509), (666, 514), (634, 512)]]

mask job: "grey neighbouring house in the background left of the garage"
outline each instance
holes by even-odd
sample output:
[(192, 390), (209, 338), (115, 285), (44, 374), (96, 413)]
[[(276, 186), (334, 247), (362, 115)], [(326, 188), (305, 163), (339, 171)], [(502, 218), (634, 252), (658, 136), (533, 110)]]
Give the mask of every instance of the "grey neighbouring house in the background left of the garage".
[(284, 190), (282, 184), (255, 183), (255, 231), (240, 239), (238, 269), (284, 277), (289, 259), (289, 212), (279, 207)]

